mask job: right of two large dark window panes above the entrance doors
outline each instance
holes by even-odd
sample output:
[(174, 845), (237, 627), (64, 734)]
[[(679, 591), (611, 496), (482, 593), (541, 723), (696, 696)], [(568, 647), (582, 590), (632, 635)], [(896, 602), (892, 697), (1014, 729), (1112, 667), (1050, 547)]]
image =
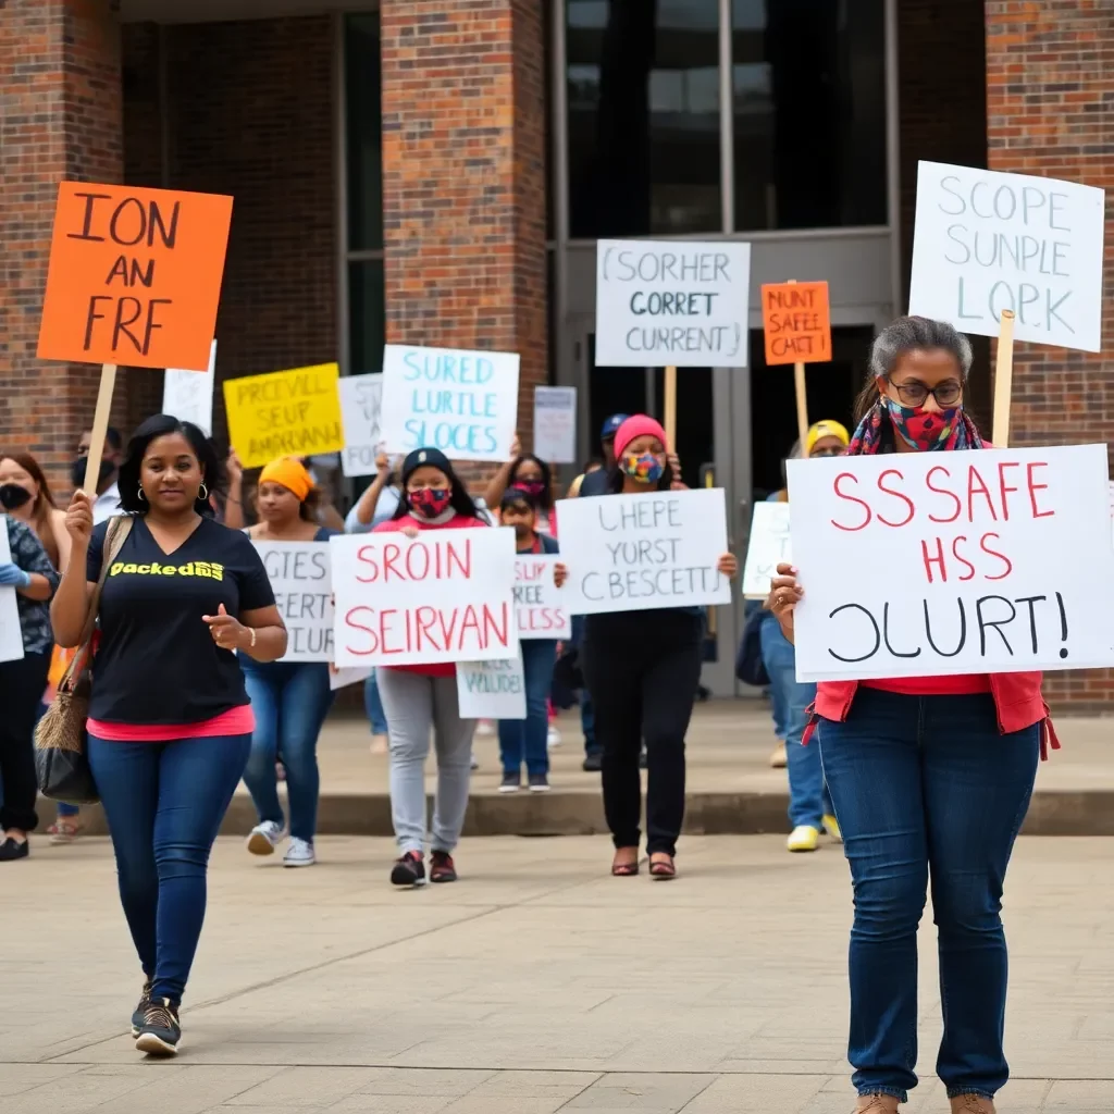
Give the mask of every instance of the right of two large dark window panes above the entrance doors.
[(732, 0), (735, 225), (887, 223), (883, 0)]

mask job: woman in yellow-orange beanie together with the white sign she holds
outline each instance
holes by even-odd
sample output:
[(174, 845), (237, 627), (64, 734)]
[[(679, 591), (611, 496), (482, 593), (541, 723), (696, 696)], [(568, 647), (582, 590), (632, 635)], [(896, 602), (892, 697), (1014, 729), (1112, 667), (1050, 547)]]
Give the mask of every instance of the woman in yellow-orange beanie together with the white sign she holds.
[[(330, 593), (329, 550), (309, 548), (266, 548), (266, 543), (328, 541), (335, 530), (317, 526), (319, 492), (310, 473), (293, 457), (272, 460), (262, 472), (256, 491), (260, 521), (247, 530), (263, 557), (264, 567), (280, 603), (280, 610), (291, 632), (287, 655), (295, 648), (294, 637), (306, 620), (324, 622)], [(316, 862), (313, 837), (317, 827), (317, 797), (321, 775), (317, 771), (317, 737), (335, 695), (329, 685), (329, 663), (300, 659), (255, 662), (240, 655), (244, 684), (255, 711), (252, 752), (244, 770), (244, 783), (252, 794), (260, 822), (247, 837), (252, 854), (272, 854), (286, 834), (285, 818), (278, 801), (275, 760), (282, 756), (290, 799), (290, 847), (284, 867), (312, 867)]]

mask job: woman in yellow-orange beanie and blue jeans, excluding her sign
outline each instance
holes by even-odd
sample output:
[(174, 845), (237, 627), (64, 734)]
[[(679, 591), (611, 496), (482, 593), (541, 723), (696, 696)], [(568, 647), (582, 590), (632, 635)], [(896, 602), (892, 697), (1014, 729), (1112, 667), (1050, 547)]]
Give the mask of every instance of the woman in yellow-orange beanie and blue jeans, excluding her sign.
[[(245, 531), (253, 541), (328, 541), (336, 531), (316, 522), (317, 489), (293, 457), (272, 460), (257, 489), (260, 522)], [(275, 759), (282, 754), (290, 801), (290, 847), (284, 867), (316, 862), (317, 736), (332, 707), (328, 662), (255, 662), (240, 655), (255, 712), (252, 751), (244, 770), (260, 822), (247, 837), (252, 854), (272, 854), (286, 836)]]

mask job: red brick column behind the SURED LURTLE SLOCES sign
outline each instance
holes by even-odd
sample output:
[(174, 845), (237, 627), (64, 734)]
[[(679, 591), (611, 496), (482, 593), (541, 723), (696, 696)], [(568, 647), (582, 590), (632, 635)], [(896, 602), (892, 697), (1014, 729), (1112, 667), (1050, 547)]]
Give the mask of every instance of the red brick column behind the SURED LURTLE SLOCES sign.
[(521, 354), (547, 380), (538, 0), (382, 0), (387, 339)]

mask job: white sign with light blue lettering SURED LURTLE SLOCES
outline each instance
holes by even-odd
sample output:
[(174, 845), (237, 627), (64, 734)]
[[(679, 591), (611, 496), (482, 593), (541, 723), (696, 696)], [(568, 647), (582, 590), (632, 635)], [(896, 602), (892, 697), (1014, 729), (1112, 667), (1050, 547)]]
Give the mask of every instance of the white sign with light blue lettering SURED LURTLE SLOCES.
[(389, 452), (509, 460), (518, 426), (518, 355), (388, 344), (380, 411)]

